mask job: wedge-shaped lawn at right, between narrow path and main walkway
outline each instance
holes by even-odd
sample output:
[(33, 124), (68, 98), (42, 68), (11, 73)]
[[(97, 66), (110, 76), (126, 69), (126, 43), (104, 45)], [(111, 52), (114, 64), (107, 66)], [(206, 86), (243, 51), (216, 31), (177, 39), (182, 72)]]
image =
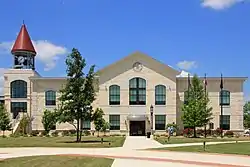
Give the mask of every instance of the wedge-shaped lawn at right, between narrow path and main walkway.
[(203, 146), (157, 148), (157, 150), (250, 155), (250, 143), (227, 143), (207, 145), (206, 151), (203, 150)]

